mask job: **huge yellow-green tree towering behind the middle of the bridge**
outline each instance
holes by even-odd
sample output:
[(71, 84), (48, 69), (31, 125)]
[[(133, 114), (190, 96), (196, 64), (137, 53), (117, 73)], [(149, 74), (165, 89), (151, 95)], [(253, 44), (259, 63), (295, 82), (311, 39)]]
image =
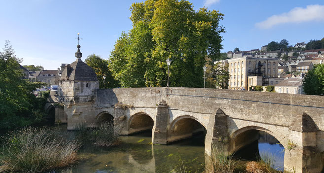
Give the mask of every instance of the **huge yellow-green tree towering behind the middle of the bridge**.
[(205, 57), (220, 58), (223, 14), (186, 0), (146, 0), (131, 6), (133, 28), (122, 33), (109, 69), (122, 87), (203, 87)]

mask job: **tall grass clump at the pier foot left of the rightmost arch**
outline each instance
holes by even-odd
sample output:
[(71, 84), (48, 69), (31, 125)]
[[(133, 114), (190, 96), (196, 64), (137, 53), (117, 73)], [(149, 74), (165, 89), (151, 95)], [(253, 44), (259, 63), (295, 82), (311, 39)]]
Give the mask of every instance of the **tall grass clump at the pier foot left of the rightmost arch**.
[(213, 145), (210, 163), (206, 163), (206, 173), (234, 173), (238, 166), (238, 161), (227, 156), (223, 147)]

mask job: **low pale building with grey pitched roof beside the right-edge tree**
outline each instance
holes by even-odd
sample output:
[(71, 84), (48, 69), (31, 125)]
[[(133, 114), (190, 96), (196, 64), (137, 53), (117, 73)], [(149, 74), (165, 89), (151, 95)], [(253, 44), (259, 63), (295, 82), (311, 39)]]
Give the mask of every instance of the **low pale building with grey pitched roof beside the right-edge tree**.
[(275, 92), (286, 94), (304, 94), (302, 78), (291, 77), (275, 85)]

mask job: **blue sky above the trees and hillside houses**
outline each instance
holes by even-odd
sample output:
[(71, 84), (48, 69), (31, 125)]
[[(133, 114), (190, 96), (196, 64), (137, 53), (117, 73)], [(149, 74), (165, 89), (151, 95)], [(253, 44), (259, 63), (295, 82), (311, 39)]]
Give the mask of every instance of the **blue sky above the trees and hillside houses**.
[[(10, 40), (23, 65), (57, 69), (76, 58), (107, 59), (122, 31), (132, 28), (129, 7), (142, 0), (0, 0), (0, 47)], [(257, 49), (271, 41), (290, 44), (324, 37), (323, 0), (189, 0), (194, 9), (219, 10), (226, 28), (222, 52)]]

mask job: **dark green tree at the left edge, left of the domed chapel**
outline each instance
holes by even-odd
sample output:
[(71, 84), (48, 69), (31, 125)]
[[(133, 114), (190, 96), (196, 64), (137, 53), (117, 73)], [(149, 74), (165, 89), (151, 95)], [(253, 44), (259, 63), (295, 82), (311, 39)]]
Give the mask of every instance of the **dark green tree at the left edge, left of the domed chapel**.
[(37, 110), (43, 109), (44, 100), (33, 95), (33, 90), (43, 83), (22, 79), (20, 62), (10, 42), (6, 41), (0, 52), (0, 129), (30, 125), (35, 122), (35, 116), (39, 116)]

